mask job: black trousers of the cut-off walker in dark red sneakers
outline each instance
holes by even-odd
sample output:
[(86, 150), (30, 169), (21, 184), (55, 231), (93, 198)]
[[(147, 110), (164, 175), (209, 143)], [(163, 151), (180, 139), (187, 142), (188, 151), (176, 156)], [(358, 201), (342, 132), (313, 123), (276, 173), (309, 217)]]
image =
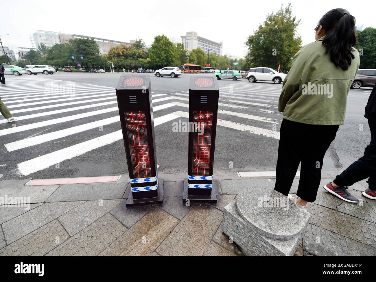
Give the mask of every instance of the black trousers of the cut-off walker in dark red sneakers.
[(376, 121), (368, 119), (368, 125), (371, 131), (370, 145), (365, 148), (363, 157), (336, 176), (334, 183), (340, 187), (351, 186), (369, 177), (369, 189), (376, 190)]

